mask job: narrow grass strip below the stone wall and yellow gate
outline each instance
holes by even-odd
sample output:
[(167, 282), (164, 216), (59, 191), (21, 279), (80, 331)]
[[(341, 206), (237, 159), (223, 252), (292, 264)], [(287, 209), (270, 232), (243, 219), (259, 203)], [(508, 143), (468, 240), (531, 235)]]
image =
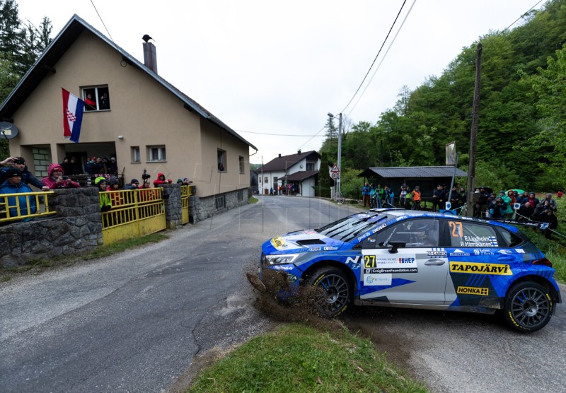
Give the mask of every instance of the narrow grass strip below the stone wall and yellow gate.
[(163, 233), (152, 233), (144, 237), (135, 237), (133, 239), (116, 242), (112, 245), (103, 245), (96, 249), (75, 255), (65, 255), (48, 259), (30, 259), (28, 264), (21, 266), (1, 266), (0, 282), (10, 281), (13, 274), (24, 274), (28, 271), (40, 273), (55, 266), (65, 266), (75, 264), (79, 261), (88, 261), (89, 259), (109, 257), (110, 255), (140, 247), (149, 243), (161, 242), (168, 239), (168, 235)]

